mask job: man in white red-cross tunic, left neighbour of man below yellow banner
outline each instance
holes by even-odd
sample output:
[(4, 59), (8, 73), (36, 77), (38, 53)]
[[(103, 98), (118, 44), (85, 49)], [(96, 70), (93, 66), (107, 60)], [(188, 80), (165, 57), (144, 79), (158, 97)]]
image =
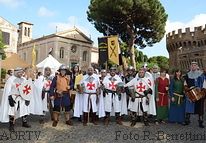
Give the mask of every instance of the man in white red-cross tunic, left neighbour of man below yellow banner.
[(97, 125), (96, 122), (96, 113), (97, 113), (97, 102), (99, 96), (99, 87), (100, 81), (99, 77), (94, 74), (94, 68), (89, 67), (87, 74), (83, 77), (83, 80), (80, 82), (80, 85), (83, 86), (83, 126), (87, 126), (89, 122), (89, 113), (92, 115), (92, 123)]

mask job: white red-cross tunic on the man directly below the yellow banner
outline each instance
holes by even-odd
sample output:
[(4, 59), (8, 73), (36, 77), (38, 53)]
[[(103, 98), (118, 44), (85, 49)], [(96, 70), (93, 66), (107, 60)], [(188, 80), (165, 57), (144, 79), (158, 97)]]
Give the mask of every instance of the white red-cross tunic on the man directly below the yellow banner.
[[(118, 83), (122, 82), (122, 79), (118, 76), (107, 75), (103, 80), (104, 87), (109, 91), (116, 92), (116, 86)], [(108, 92), (104, 97), (104, 109), (105, 112), (116, 112), (121, 115), (127, 114), (127, 105), (126, 105), (126, 94), (122, 93), (121, 98), (119, 99), (119, 95), (116, 93)]]

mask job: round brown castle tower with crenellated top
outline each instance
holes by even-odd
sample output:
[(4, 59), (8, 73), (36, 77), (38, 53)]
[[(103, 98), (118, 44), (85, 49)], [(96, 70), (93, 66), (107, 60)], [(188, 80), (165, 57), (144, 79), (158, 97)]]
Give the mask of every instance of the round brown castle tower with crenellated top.
[(178, 29), (166, 35), (166, 46), (169, 52), (171, 69), (180, 68), (187, 71), (192, 61), (198, 62), (199, 68), (206, 67), (206, 25), (194, 27), (194, 31), (186, 28)]

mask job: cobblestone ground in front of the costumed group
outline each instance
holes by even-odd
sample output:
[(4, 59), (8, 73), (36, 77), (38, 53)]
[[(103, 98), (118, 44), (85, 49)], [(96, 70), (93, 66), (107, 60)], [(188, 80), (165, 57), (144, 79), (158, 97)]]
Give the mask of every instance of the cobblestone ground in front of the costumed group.
[(0, 123), (0, 142), (14, 143), (133, 143), (133, 142), (206, 142), (206, 129), (198, 127), (197, 116), (192, 116), (191, 125), (182, 126), (180, 124), (150, 124), (145, 127), (142, 123), (137, 123), (131, 128), (128, 119), (124, 119), (123, 126), (116, 125), (112, 118), (109, 126), (104, 126), (99, 120), (98, 125), (91, 123), (84, 127), (77, 119), (73, 119), (74, 125), (67, 126), (64, 123), (63, 115), (57, 127), (51, 126), (49, 115), (46, 116), (46, 123), (39, 124), (39, 117), (31, 115), (29, 123), (32, 128), (21, 127), (21, 119), (15, 124), (15, 133), (10, 133), (8, 124)]

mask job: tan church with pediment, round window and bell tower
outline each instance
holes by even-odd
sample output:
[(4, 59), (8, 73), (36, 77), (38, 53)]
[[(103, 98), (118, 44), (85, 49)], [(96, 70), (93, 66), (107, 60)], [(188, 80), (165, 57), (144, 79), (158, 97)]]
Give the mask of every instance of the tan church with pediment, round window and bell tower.
[(50, 53), (60, 63), (70, 67), (79, 64), (82, 70), (87, 70), (93, 61), (91, 57), (95, 57), (97, 54), (97, 49), (93, 47), (93, 41), (77, 28), (32, 39), (33, 24), (21, 22), (18, 25), (17, 52), (27, 63), (32, 61), (34, 46), (36, 49), (36, 63), (44, 60)]

